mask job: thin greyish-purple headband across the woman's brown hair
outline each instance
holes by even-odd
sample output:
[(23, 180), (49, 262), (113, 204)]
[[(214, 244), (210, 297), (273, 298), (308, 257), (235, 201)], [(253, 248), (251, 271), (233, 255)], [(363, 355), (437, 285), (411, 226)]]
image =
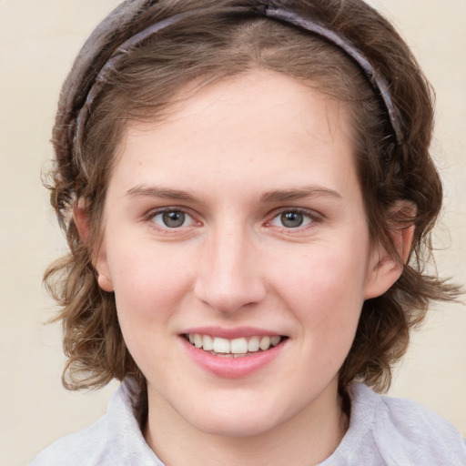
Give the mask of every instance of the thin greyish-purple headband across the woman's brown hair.
[[(260, 3), (260, 2), (259, 2)], [(271, 2), (273, 3), (273, 2)], [(264, 5), (265, 4), (265, 5)], [(402, 144), (403, 142), (403, 133), (400, 127), (400, 117), (396, 107), (393, 105), (390, 96), (390, 86), (384, 76), (381, 76), (376, 69), (370, 64), (370, 61), (364, 56), (360, 50), (354, 46), (349, 39), (343, 35), (339, 35), (335, 31), (330, 30), (328, 27), (319, 24), (317, 21), (303, 17), (289, 10), (269, 5), (270, 2), (262, 2), (260, 5), (253, 6), (237, 6), (232, 7), (229, 11), (232, 13), (255, 13), (257, 15), (262, 15), (268, 18), (277, 19), (283, 23), (294, 25), (300, 29), (304, 29), (309, 33), (314, 35), (319, 35), (320, 37), (326, 39), (329, 43), (337, 46), (340, 50), (345, 52), (364, 73), (367, 77), (370, 85), (373, 87), (377, 95), (380, 96), (381, 100), (384, 103), (385, 108), (387, 109), (390, 124), (393, 128), (394, 135), (396, 137), (397, 143)], [(150, 25), (143, 31), (139, 32), (137, 35), (133, 35), (121, 46), (118, 46), (117, 49), (113, 52), (112, 56), (108, 59), (106, 64), (102, 66), (100, 71), (96, 76), (94, 84), (91, 86), (84, 106), (78, 113), (76, 119), (76, 133), (75, 133), (75, 147), (76, 143), (81, 143), (83, 137), (83, 130), (86, 124), (86, 119), (89, 114), (89, 109), (92, 106), (96, 95), (98, 94), (101, 87), (106, 82), (106, 75), (114, 70), (117, 64), (127, 55), (128, 52), (135, 49), (139, 44), (144, 42), (148, 37), (157, 34), (163, 29), (171, 26), (177, 25), (177, 23), (183, 21), (184, 19), (189, 18), (190, 16), (198, 15), (201, 10), (191, 10), (185, 13), (180, 13), (178, 15), (170, 16), (155, 25)]]

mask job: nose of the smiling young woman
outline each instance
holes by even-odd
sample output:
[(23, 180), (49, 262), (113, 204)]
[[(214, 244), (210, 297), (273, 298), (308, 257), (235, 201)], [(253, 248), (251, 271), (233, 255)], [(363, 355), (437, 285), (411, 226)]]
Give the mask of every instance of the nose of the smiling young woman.
[(203, 245), (195, 296), (211, 308), (233, 313), (266, 295), (258, 250), (247, 228), (218, 228)]

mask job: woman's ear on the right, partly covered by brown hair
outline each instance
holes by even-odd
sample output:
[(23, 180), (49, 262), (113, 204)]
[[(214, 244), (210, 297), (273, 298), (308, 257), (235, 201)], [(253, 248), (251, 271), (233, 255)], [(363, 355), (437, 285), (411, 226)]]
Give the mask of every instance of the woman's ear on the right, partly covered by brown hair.
[[(410, 258), (415, 228), (414, 223), (407, 222), (407, 220), (414, 218), (415, 214), (416, 208), (409, 201), (398, 201), (393, 208), (390, 208), (388, 223), (393, 225), (390, 229), (390, 236), (398, 258), (393, 257), (386, 248), (374, 248), (370, 257), (364, 299), (381, 296), (400, 279), (403, 267)], [(396, 225), (397, 219), (404, 220), (403, 224)]]

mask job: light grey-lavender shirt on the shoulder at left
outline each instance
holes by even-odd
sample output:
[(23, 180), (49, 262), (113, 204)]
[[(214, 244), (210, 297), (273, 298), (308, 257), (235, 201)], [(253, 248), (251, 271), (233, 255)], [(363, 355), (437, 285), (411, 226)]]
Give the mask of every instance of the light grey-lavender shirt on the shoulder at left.
[(67, 435), (39, 453), (29, 466), (160, 465), (133, 414), (131, 382), (126, 380), (108, 403), (105, 416)]

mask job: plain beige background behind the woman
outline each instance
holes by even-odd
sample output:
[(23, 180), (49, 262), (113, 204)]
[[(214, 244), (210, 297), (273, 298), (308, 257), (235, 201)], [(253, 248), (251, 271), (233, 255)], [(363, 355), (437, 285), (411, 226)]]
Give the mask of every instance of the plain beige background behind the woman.
[[(115, 389), (68, 393), (46, 265), (65, 248), (40, 172), (56, 98), (73, 57), (117, 0), (0, 0), (0, 464), (30, 461), (56, 438), (106, 410)], [(439, 269), (466, 282), (466, 1), (371, 2), (400, 27), (438, 97), (434, 153), (446, 203)], [(466, 309), (433, 309), (390, 392), (440, 412), (466, 436)]]

